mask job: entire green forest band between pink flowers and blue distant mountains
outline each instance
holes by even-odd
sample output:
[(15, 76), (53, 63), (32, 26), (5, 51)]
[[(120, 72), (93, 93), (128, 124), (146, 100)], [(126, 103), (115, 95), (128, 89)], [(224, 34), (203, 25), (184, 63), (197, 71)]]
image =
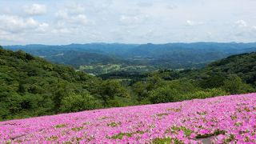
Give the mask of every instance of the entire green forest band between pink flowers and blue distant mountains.
[(256, 53), (232, 55), (198, 70), (102, 78), (0, 47), (0, 120), (245, 94), (255, 87)]

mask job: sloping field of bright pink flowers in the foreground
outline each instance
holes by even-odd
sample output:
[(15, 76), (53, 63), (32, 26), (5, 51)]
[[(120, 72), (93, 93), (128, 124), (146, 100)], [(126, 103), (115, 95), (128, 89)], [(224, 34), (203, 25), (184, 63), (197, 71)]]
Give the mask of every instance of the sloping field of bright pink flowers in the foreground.
[(0, 143), (256, 143), (256, 94), (0, 122)]

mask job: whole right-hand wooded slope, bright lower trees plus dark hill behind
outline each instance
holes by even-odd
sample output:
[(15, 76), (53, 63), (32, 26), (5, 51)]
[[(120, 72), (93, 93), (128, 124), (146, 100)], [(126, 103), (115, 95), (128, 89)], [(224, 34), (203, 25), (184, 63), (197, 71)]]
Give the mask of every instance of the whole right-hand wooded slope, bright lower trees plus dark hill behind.
[(136, 82), (134, 92), (146, 103), (255, 92), (255, 54), (230, 56), (200, 70), (158, 70)]

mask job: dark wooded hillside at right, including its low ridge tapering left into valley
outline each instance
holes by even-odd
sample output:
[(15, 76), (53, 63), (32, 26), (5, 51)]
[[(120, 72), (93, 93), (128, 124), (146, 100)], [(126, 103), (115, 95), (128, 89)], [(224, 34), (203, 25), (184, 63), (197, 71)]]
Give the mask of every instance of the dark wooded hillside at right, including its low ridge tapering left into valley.
[(211, 62), (198, 70), (159, 70), (157, 74), (166, 80), (178, 78), (208, 79), (209, 84), (215, 83), (214, 80), (219, 80), (219, 84), (222, 84), (226, 78), (238, 76), (247, 84), (256, 86), (256, 52), (234, 54)]

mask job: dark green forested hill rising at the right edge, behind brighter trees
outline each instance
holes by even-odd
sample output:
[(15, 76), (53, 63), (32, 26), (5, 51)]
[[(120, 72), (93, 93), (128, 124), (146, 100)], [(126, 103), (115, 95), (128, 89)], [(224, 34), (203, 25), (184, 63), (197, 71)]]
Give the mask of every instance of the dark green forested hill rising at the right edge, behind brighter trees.
[(256, 87), (256, 53), (235, 54), (210, 63), (201, 70), (184, 70), (186, 78), (201, 79), (205, 87), (218, 87), (226, 78), (239, 77), (243, 82)]

